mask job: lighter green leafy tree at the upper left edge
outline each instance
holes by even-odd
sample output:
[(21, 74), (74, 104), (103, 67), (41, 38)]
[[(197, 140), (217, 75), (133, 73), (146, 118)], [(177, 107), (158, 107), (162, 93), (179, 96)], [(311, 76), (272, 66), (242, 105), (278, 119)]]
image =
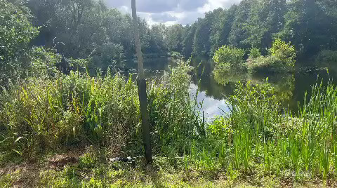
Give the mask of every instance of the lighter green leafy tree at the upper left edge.
[(32, 15), (20, 2), (0, 1), (0, 83), (18, 79), (29, 67), (29, 42), (38, 34)]

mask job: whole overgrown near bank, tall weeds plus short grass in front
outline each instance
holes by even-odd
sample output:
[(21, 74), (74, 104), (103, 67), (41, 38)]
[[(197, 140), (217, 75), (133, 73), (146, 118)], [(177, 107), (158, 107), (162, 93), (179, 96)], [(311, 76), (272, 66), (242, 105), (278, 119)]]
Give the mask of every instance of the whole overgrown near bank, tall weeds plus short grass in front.
[(148, 81), (154, 154), (150, 167), (142, 157), (134, 166), (132, 160), (110, 161), (143, 155), (132, 79), (72, 72), (53, 79), (31, 77), (4, 90), (0, 185), (334, 184), (337, 90), (332, 83), (313, 87), (297, 114), (284, 110), (268, 81), (237, 83), (226, 99), (229, 113), (207, 122), (197, 110), (202, 104), (190, 97), (192, 71), (188, 63), (179, 62), (161, 79)]

